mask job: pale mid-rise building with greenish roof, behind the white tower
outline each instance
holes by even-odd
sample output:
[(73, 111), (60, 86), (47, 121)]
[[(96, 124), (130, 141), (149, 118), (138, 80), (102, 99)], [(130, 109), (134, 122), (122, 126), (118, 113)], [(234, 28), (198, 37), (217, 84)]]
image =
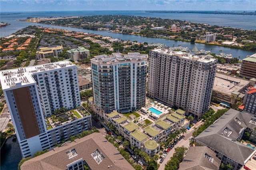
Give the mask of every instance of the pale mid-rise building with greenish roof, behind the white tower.
[(78, 47), (76, 49), (68, 50), (67, 54), (72, 61), (79, 61), (80, 59), (88, 58), (90, 56), (90, 51), (84, 47)]

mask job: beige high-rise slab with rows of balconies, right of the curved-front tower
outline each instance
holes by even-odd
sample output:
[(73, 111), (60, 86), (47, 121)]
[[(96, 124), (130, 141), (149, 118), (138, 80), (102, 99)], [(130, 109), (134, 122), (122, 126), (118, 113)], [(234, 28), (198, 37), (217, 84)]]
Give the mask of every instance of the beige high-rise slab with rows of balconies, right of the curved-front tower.
[(148, 96), (201, 117), (209, 108), (217, 59), (169, 49), (149, 53)]

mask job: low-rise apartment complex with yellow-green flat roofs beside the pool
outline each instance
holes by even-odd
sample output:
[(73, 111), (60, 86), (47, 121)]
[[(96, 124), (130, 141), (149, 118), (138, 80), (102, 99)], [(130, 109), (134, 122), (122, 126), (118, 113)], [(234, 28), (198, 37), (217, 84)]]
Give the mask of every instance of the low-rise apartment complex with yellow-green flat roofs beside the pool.
[[(154, 104), (150, 104), (150, 106), (154, 106)], [(148, 105), (147, 107), (150, 106)], [(168, 110), (166, 106), (163, 106), (163, 108)], [(121, 113), (113, 111), (106, 115), (106, 122), (114, 125), (119, 134), (124, 136), (125, 140), (130, 141), (131, 146), (136, 146), (138, 149), (144, 150), (150, 157), (159, 152), (159, 143), (166, 142), (166, 139), (172, 132), (188, 126), (185, 123), (185, 112), (180, 109), (176, 112), (170, 111), (169, 113), (163, 113), (163, 115), (156, 118), (156, 121), (152, 118), (152, 114), (154, 113), (150, 112), (146, 115), (144, 112), (137, 112), (137, 114), (140, 113), (138, 117), (140, 121), (136, 121), (136, 118), (132, 116), (128, 118)], [(141, 125), (141, 121), (147, 118), (151, 123), (146, 126)]]

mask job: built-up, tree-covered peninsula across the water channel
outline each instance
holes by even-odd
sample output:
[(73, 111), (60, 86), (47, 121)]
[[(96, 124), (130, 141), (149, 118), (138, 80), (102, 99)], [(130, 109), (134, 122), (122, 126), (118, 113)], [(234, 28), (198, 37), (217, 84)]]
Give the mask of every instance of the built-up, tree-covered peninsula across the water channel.
[(256, 30), (210, 26), (190, 21), (124, 15), (79, 16), (68, 18), (28, 18), (26, 22), (108, 30), (121, 34), (165, 38), (175, 41), (208, 43), (244, 50), (256, 50)]

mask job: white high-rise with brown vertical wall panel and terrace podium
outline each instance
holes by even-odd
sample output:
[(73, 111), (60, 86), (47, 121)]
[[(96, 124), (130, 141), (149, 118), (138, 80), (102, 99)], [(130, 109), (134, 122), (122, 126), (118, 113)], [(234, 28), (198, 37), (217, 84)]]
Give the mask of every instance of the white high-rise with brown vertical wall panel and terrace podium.
[(0, 71), (0, 81), (23, 157), (91, 127), (90, 115), (50, 120), (56, 109), (80, 106), (76, 65), (70, 61)]

